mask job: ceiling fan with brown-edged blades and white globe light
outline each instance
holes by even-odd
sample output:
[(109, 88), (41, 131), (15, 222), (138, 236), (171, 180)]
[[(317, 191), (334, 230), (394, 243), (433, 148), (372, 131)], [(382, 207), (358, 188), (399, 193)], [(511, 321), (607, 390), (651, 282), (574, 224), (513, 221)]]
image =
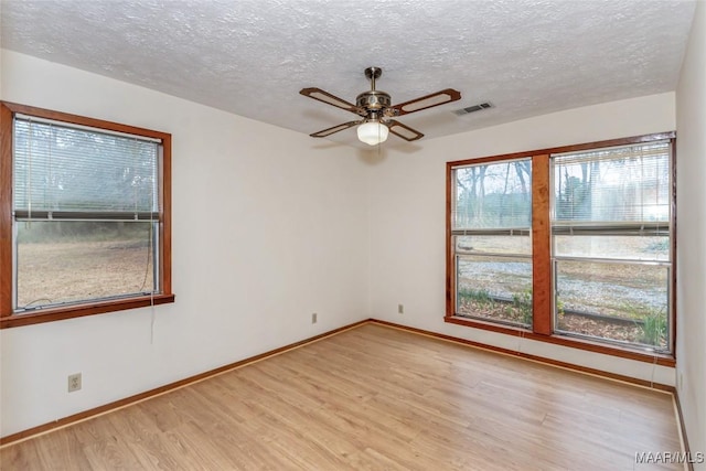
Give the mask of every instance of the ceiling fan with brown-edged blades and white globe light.
[(331, 95), (321, 88), (302, 88), (299, 93), (303, 96), (333, 105), (362, 117), (362, 119), (333, 126), (332, 128), (323, 129), (310, 136), (312, 138), (323, 138), (357, 126), (357, 138), (371, 146), (384, 142), (387, 139), (388, 132), (407, 141), (414, 141), (421, 139), (424, 135), (393, 118), (461, 99), (460, 92), (453, 88), (446, 88), (392, 106), (389, 94), (375, 89), (375, 79), (379, 78), (382, 74), (383, 69), (379, 67), (367, 67), (365, 69), (365, 76), (371, 81), (371, 89), (360, 94), (357, 98), (355, 98), (355, 105)]

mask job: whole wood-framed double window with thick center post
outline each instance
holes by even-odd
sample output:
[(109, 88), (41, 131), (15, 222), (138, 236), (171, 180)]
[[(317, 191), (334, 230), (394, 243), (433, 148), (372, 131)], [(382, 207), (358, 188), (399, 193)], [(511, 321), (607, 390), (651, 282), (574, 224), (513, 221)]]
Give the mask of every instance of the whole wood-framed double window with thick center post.
[(448, 322), (673, 364), (674, 133), (447, 164)]

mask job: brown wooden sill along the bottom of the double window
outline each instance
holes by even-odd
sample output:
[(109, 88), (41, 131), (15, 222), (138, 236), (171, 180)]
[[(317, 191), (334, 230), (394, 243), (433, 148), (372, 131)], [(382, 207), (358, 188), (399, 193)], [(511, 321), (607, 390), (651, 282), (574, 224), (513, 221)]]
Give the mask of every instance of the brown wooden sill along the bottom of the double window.
[(569, 346), (571, 349), (585, 350), (588, 352), (602, 353), (605, 355), (619, 356), (622, 358), (635, 360), (639, 362), (654, 363), (661, 366), (674, 367), (676, 360), (674, 355), (663, 353), (649, 353), (639, 350), (632, 350), (628, 347), (620, 347), (618, 345), (609, 345), (599, 342), (592, 342), (586, 339), (577, 339), (565, 335), (542, 335), (531, 332), (526, 329), (513, 328), (507, 325), (495, 324), (492, 322), (483, 322), (475, 319), (463, 318), (459, 315), (447, 315), (443, 318), (445, 322), (466, 325), (473, 329), (488, 330), (492, 332), (503, 333), (513, 336), (523, 336), (525, 339), (535, 340), (538, 342), (554, 343), (557, 345)]

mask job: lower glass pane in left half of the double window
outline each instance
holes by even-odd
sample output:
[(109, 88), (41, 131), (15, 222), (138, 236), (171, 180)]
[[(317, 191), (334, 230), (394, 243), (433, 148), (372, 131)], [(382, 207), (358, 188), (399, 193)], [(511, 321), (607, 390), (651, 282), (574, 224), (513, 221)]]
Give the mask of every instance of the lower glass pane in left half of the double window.
[(532, 323), (532, 259), (457, 256), (457, 315)]

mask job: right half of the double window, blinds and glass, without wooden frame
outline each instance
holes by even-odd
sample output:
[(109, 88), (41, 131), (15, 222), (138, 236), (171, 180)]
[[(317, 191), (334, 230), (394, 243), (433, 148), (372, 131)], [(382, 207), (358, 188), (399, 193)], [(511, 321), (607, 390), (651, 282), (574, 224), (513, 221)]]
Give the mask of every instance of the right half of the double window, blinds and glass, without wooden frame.
[(552, 156), (556, 331), (670, 350), (671, 143)]

